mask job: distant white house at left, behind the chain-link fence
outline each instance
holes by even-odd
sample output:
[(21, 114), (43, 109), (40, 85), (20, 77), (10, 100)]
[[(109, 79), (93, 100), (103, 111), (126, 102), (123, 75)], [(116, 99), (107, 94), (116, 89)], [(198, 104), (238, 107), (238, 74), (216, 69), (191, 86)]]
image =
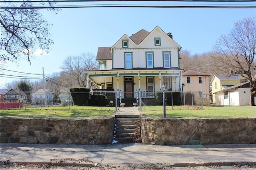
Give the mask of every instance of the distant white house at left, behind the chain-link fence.
[(39, 89), (35, 93), (32, 93), (32, 104), (33, 105), (52, 105), (53, 95), (50, 90)]

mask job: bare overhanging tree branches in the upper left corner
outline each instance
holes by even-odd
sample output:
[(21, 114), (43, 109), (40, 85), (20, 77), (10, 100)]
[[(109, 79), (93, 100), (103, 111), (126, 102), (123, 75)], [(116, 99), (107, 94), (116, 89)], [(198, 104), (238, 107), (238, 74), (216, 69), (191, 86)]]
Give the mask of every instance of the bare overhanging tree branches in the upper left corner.
[[(49, 0), (52, 5), (53, 0)], [(29, 0), (21, 3), (2, 2), (4, 7), (0, 9), (0, 60), (16, 61), (22, 54), (30, 62), (30, 56), (35, 48), (46, 52), (53, 43), (48, 36), (50, 24), (42, 18), (38, 9), (32, 8)], [(43, 5), (40, 3), (38, 5)], [(30, 62), (31, 64), (31, 62)]]

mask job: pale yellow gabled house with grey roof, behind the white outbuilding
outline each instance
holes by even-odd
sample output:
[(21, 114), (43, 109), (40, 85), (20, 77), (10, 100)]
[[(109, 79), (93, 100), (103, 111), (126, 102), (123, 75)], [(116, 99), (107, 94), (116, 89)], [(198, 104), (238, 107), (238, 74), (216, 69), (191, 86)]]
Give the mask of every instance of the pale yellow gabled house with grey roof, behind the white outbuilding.
[(216, 93), (244, 82), (246, 82), (246, 78), (241, 75), (214, 75), (210, 82), (212, 87), (212, 103), (221, 105), (220, 98), (216, 96)]

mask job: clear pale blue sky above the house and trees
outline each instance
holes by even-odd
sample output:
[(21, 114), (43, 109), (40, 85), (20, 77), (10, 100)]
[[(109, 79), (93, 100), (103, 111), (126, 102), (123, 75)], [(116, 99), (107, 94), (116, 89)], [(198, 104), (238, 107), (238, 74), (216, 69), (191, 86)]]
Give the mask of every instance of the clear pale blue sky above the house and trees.
[[(98, 47), (112, 46), (124, 34), (131, 36), (141, 29), (151, 32), (156, 26), (171, 32), (181, 50), (201, 54), (212, 51), (218, 37), (228, 34), (235, 22), (256, 16), (255, 9), (196, 8), (76, 8), (58, 14), (47, 10), (42, 13), (53, 24), (50, 53), (34, 55), (31, 65), (25, 59), (19, 60), (19, 65), (8, 62), (4, 69), (42, 74), (44, 67), (46, 75), (51, 75), (70, 55), (91, 52), (96, 56)], [(0, 78), (0, 88), (6, 82), (19, 80)]]

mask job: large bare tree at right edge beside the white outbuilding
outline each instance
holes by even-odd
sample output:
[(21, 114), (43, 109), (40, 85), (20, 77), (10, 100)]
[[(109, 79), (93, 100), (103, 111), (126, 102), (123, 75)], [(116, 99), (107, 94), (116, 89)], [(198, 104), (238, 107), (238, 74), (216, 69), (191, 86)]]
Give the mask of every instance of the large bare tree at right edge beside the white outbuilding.
[(256, 17), (245, 18), (234, 24), (227, 36), (221, 35), (215, 44), (215, 50), (221, 55), (220, 69), (232, 68), (233, 74), (241, 74), (250, 82), (250, 105), (254, 104), (256, 81), (253, 70), (256, 69)]

